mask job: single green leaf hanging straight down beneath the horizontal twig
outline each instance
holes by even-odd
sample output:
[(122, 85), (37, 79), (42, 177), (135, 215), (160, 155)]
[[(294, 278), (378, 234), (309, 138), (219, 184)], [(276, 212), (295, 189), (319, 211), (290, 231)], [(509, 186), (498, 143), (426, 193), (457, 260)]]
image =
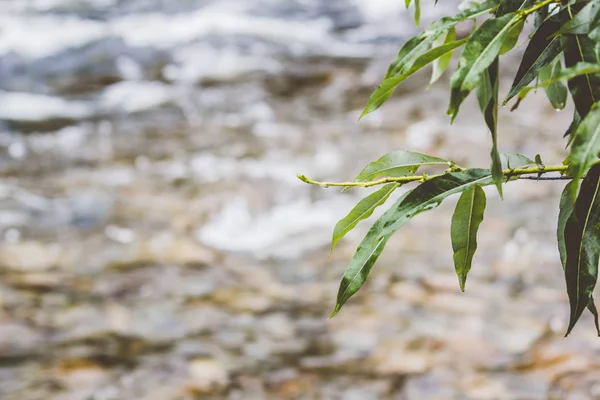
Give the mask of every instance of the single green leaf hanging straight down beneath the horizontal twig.
[(483, 221), (485, 205), (485, 192), (480, 186), (473, 186), (460, 196), (452, 216), (450, 236), (454, 251), (454, 268), (458, 275), (460, 290), (463, 292), (477, 250), (477, 231)]

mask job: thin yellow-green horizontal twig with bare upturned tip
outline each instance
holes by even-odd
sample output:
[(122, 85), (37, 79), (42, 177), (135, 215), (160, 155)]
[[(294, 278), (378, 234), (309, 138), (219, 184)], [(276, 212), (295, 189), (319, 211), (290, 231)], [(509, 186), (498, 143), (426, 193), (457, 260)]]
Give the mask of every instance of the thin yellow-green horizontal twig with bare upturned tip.
[[(546, 166), (535, 166), (535, 167), (527, 167), (527, 168), (508, 168), (503, 170), (504, 177), (507, 179), (539, 179), (539, 180), (556, 180), (558, 179), (570, 179), (569, 177), (545, 177), (541, 178), (541, 175), (547, 174), (549, 172), (560, 172), (564, 173), (567, 170), (567, 165), (546, 165)], [(298, 179), (302, 182), (306, 182), (311, 185), (318, 185), (323, 188), (328, 188), (330, 186), (341, 186), (341, 187), (371, 187), (378, 185), (385, 185), (386, 183), (399, 183), (405, 184), (409, 182), (420, 182), (423, 183), (433, 178), (437, 178), (440, 176), (444, 176), (448, 172), (443, 174), (422, 174), (422, 175), (409, 175), (409, 176), (401, 176), (401, 177), (387, 177), (381, 178), (374, 181), (368, 182), (319, 182), (312, 180), (304, 175), (298, 174)], [(526, 175), (537, 174), (538, 177), (527, 177)], [(525, 176), (524, 176), (525, 175)]]

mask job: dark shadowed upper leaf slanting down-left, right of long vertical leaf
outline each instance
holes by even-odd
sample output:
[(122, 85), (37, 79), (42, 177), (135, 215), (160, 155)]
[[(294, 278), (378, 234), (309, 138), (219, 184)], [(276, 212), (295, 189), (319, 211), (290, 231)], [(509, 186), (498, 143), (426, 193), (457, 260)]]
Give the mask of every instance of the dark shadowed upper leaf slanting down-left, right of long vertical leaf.
[(558, 28), (560, 28), (560, 21), (557, 18), (550, 18), (533, 34), (504, 104), (531, 83), (538, 76), (539, 71), (550, 64), (561, 52), (559, 38), (551, 37)]

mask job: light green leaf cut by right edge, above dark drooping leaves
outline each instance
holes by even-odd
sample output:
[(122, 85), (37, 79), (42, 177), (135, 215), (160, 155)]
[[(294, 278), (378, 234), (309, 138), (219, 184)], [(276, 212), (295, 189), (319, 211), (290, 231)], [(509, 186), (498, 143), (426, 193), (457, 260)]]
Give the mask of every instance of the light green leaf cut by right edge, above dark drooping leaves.
[(600, 102), (579, 123), (569, 153), (567, 174), (579, 180), (596, 160), (600, 152)]

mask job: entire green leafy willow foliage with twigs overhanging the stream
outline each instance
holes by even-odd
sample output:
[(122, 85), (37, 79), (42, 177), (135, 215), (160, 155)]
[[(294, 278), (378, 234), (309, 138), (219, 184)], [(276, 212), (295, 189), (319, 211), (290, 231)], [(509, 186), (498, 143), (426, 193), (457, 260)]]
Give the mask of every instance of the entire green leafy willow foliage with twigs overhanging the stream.
[[(420, 0), (412, 2), (419, 24)], [(411, 0), (406, 0), (406, 6)], [(471, 22), (462, 38), (456, 25)], [(512, 51), (526, 23), (530, 35), (512, 86), (499, 93), (501, 56)], [(486, 195), (492, 185), (502, 196), (503, 185), (527, 175), (558, 172), (568, 179), (559, 208), (557, 241), (570, 302), (567, 335), (587, 308), (598, 328), (593, 290), (600, 259), (600, 0), (483, 0), (463, 4), (454, 16), (446, 16), (407, 40), (391, 62), (381, 84), (371, 94), (361, 115), (378, 109), (404, 80), (432, 66), (430, 83), (438, 80), (458, 53), (458, 65), (450, 78), (448, 115), (454, 121), (464, 100), (475, 92), (490, 139), (488, 168), (464, 169), (449, 160), (425, 154), (395, 151), (367, 165), (352, 181), (338, 186), (375, 186), (379, 190), (362, 199), (335, 226), (332, 250), (361, 220), (372, 215), (398, 188), (404, 191), (372, 225), (358, 246), (342, 278), (332, 316), (365, 283), (371, 268), (390, 237), (417, 214), (437, 207), (447, 197), (460, 195), (452, 216), (451, 240), (460, 289), (477, 249), (477, 232), (484, 218)], [(541, 88), (557, 110), (574, 104), (573, 121), (564, 137), (569, 156), (558, 166), (546, 166), (519, 154), (502, 154), (498, 148), (498, 106), (516, 98), (516, 109), (531, 90)], [(416, 174), (422, 167), (444, 166), (443, 173)], [(308, 183), (319, 183), (301, 176)], [(544, 178), (540, 178), (544, 179)], [(322, 184), (323, 186), (331, 185)], [(600, 334), (600, 329), (598, 329)]]

